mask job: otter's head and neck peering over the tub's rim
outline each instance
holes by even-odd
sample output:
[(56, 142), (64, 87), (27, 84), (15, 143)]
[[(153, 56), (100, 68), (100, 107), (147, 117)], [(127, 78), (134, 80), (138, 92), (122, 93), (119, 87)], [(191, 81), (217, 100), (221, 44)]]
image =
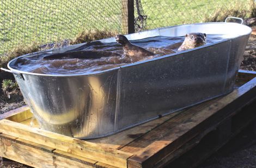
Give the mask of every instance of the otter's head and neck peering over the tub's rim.
[(192, 49), (206, 44), (205, 33), (190, 33), (186, 34), (184, 42), (178, 48), (178, 51)]

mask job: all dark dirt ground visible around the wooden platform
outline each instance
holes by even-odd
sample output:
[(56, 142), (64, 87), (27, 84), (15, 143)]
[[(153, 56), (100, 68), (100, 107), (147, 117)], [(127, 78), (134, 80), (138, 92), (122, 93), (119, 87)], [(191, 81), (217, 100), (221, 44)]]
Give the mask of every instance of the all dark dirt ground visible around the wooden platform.
[[(256, 36), (254, 35), (249, 37), (240, 69), (256, 71)], [(0, 114), (23, 105), (25, 105), (25, 102), (23, 101), (21, 93), (13, 95), (13, 99), (8, 99), (3, 93), (0, 93)], [(238, 137), (231, 140), (199, 167), (256, 167), (255, 130), (255, 125), (245, 129), (245, 131), (240, 133)], [(0, 167), (25, 168), (29, 166), (10, 160), (2, 161), (2, 158), (0, 157)]]

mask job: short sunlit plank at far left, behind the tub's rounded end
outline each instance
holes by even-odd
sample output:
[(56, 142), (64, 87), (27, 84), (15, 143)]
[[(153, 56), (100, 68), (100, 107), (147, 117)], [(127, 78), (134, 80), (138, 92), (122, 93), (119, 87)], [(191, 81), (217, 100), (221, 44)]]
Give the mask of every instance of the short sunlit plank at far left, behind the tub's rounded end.
[(13, 109), (9, 112), (0, 114), (0, 120), (9, 119), (12, 121), (20, 122), (32, 117), (32, 113), (28, 106), (22, 106), (20, 108)]

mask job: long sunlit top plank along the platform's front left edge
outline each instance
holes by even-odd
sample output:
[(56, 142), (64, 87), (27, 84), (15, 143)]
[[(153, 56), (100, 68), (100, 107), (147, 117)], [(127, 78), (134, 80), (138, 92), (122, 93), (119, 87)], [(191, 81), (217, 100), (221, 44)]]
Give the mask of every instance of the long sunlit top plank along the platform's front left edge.
[(127, 158), (132, 156), (128, 152), (103, 148), (94, 143), (28, 127), (6, 119), (0, 120), (0, 132), (113, 166), (126, 167)]

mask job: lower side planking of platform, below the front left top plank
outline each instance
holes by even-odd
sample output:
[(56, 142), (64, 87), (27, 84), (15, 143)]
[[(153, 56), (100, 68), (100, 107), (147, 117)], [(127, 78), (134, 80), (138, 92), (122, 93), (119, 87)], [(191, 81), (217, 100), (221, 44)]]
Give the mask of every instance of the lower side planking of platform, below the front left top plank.
[[(18, 161), (33, 167), (95, 167), (97, 161), (79, 156), (70, 159), (69, 156), (56, 155), (58, 151), (52, 154), (54, 148), (36, 144), (20, 138), (10, 139), (10, 135), (1, 134), (0, 156)], [(86, 160), (86, 161), (84, 161)]]

